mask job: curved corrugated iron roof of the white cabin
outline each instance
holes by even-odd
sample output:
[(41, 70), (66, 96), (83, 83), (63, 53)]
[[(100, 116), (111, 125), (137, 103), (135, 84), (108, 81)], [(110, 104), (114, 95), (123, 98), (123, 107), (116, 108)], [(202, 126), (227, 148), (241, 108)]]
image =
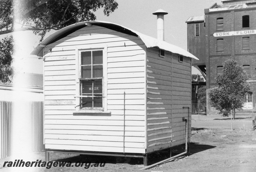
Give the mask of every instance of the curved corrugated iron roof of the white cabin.
[(48, 36), (44, 41), (39, 43), (36, 46), (36, 48), (34, 49), (34, 51), (31, 52), (31, 54), (32, 55), (37, 55), (37, 56), (42, 56), (43, 55), (43, 48), (46, 45), (54, 43), (57, 40), (75, 32), (76, 30), (85, 27), (86, 23), (91, 23), (92, 25), (106, 27), (108, 29), (112, 29), (112, 30), (115, 30), (115, 31), (118, 31), (118, 32), (122, 32), (122, 33), (125, 33), (125, 34), (128, 34), (128, 35), (138, 36), (145, 43), (145, 45), (148, 48), (158, 47), (158, 48), (160, 48), (162, 50), (165, 50), (165, 51), (170, 51), (172, 53), (180, 54), (182, 56), (197, 59), (193, 54), (189, 53), (188, 51), (186, 51), (186, 50), (184, 50), (184, 49), (182, 49), (178, 46), (172, 45), (170, 43), (158, 40), (158, 39), (153, 38), (151, 36), (141, 34), (140, 32), (129, 29), (127, 27), (117, 25), (115, 23), (110, 23), (110, 22), (107, 22), (107, 21), (83, 21), (83, 22), (79, 22), (79, 23), (64, 27), (64, 28), (54, 32), (52, 35)]

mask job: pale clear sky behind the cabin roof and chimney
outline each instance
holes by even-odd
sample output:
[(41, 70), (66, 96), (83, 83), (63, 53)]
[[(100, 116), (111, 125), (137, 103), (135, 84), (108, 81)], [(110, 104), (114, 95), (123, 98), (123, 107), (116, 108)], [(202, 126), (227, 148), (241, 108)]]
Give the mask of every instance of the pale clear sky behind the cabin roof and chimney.
[[(108, 21), (122, 25), (142, 34), (157, 37), (156, 15), (152, 13), (158, 9), (168, 12), (164, 15), (164, 40), (187, 50), (187, 24), (191, 16), (204, 15), (204, 9), (212, 4), (221, 4), (221, 0), (116, 0), (118, 9), (110, 15), (104, 16), (103, 10), (94, 12), (97, 20)], [(51, 33), (47, 33), (46, 37)], [(39, 36), (32, 31), (17, 33), (22, 41), (23, 70), (27, 73), (43, 74), (43, 61), (36, 56), (29, 55), (39, 44)], [(0, 35), (2, 38), (3, 35)], [(45, 37), (45, 38), (46, 38)], [(192, 74), (200, 72), (192, 69)]]

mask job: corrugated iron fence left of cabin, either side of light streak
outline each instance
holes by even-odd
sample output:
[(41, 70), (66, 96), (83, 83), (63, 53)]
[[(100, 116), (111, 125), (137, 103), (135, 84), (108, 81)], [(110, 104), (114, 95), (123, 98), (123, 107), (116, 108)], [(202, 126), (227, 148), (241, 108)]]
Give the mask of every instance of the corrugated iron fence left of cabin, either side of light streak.
[[(0, 101), (0, 158), (11, 155), (12, 147), (12, 118), (14, 103)], [(28, 124), (31, 126), (32, 151), (43, 151), (43, 102), (29, 101), (24, 103), (24, 109), (28, 113)]]

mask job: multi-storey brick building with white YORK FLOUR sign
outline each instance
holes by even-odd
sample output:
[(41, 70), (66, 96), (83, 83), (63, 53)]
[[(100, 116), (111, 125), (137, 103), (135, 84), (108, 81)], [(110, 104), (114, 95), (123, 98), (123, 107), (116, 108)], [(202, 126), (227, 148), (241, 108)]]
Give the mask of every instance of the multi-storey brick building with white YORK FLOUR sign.
[[(223, 0), (204, 9), (204, 16), (190, 17), (188, 51), (199, 60), (195, 66), (204, 75), (207, 89), (216, 85), (224, 61), (234, 59), (248, 76), (251, 92), (244, 110), (256, 104), (256, 0)], [(210, 104), (207, 99), (207, 109)]]

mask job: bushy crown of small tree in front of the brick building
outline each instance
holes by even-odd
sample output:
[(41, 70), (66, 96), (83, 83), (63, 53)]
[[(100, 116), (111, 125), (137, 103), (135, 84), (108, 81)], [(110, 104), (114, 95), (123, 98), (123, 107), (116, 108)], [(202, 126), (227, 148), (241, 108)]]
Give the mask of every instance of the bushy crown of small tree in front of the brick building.
[(234, 60), (226, 60), (223, 73), (215, 78), (217, 86), (209, 90), (211, 105), (223, 116), (228, 116), (230, 110), (242, 110), (244, 97), (250, 91), (247, 76), (241, 66)]

